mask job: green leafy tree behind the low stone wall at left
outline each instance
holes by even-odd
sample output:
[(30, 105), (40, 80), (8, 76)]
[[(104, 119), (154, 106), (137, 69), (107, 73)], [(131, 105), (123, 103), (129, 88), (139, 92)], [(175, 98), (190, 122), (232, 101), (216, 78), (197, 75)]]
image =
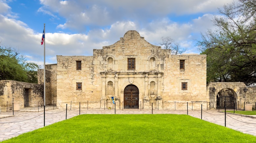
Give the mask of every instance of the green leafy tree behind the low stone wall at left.
[(27, 62), (15, 49), (0, 46), (0, 80), (37, 83), (39, 68), (39, 65)]

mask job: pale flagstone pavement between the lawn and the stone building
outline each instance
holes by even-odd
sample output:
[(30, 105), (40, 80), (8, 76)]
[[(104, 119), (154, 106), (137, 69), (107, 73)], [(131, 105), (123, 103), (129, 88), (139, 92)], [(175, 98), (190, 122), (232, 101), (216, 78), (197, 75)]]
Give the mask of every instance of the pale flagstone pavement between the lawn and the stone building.
[[(45, 114), (45, 126), (53, 124), (58, 121), (66, 119), (66, 109), (52, 109), (46, 107)], [(27, 111), (34, 112), (27, 112)], [(12, 116), (10, 112), (0, 112), (0, 117), (5, 116), (8, 118), (0, 119), (0, 141), (8, 138), (18, 136), (22, 133), (30, 132), (44, 126), (43, 110), (40, 109), (37, 112), (36, 109), (21, 109), (21, 111), (15, 111)], [(24, 112), (26, 111), (26, 112)], [(80, 110), (80, 114), (115, 114), (115, 109), (89, 109), (83, 108)], [(116, 114), (152, 114), (150, 109), (116, 109)], [(153, 114), (187, 114), (186, 110), (153, 110)], [(67, 110), (67, 119), (79, 115), (79, 109)], [(201, 119), (201, 110), (189, 110), (188, 115)], [(203, 110), (202, 119), (218, 125), (225, 125), (224, 113), (218, 112), (218, 110)], [(248, 124), (252, 123), (252, 124)], [(256, 117), (246, 117), (241, 115), (226, 114), (226, 127), (256, 136)]]

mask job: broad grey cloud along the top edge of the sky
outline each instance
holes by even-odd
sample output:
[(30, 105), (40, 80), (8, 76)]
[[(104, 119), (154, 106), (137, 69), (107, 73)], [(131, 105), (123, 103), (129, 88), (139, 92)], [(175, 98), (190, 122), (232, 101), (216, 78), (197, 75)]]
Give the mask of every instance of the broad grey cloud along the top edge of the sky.
[[(129, 1), (58, 1), (41, 0), (44, 5), (39, 11), (57, 12), (66, 19), (66, 23), (57, 28), (86, 30), (83, 25), (107, 26), (117, 21), (139, 21), (144, 24), (148, 19), (166, 17), (167, 15), (188, 15), (216, 12), (233, 0), (129, 0)], [(44, 10), (43, 10), (44, 9)], [(49, 13), (49, 15), (52, 15)], [(53, 15), (55, 16), (55, 15)]]

